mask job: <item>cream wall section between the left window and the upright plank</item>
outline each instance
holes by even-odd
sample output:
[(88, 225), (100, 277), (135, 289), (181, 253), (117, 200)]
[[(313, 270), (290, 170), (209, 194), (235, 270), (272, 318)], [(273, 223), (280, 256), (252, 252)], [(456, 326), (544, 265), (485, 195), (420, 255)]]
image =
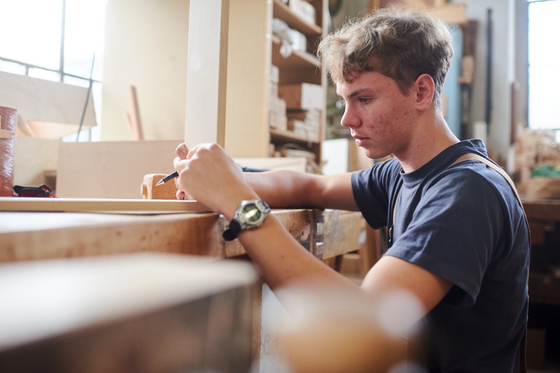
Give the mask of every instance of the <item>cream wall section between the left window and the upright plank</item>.
[(131, 85), (137, 88), (144, 138), (183, 139), (188, 6), (188, 0), (107, 2), (102, 140), (131, 139)]

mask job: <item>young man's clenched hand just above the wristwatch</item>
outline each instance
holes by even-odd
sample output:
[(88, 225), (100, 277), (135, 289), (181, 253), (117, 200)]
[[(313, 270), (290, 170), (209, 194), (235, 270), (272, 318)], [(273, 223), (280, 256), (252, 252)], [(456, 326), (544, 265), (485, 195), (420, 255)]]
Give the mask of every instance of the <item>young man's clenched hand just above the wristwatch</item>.
[(218, 144), (203, 143), (187, 151), (183, 143), (176, 154), (177, 198), (189, 195), (228, 220), (241, 200), (258, 198), (245, 182), (239, 165)]

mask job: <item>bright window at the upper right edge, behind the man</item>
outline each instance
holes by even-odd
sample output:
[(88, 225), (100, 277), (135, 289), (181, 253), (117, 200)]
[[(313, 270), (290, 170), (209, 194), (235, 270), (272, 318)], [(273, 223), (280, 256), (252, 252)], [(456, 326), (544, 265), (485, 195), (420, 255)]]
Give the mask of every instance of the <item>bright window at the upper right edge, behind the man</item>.
[(560, 0), (528, 0), (528, 124), (533, 129), (560, 129)]

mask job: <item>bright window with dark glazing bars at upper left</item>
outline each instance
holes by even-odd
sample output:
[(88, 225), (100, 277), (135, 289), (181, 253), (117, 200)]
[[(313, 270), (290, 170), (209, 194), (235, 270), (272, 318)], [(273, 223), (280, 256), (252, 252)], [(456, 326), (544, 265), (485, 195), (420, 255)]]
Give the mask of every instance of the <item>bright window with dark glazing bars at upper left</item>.
[(91, 75), (100, 118), (106, 1), (2, 1), (0, 11), (9, 16), (0, 22), (0, 71), (82, 87), (90, 85)]

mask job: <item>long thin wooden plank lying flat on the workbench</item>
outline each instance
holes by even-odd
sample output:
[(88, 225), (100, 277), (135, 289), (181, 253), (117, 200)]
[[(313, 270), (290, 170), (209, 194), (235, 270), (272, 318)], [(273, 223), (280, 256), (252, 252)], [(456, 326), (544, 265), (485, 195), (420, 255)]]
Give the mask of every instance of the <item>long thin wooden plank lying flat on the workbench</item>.
[(85, 199), (85, 198), (14, 198), (0, 197), (0, 211), (64, 212), (208, 212), (196, 201), (172, 199)]

